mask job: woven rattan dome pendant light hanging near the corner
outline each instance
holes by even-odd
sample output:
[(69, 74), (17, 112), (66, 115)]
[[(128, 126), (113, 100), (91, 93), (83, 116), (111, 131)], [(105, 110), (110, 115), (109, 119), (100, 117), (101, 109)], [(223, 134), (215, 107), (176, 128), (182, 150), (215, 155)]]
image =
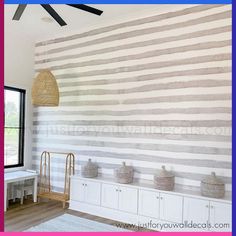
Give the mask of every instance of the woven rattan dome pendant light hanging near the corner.
[(31, 97), (34, 106), (59, 105), (57, 81), (49, 70), (41, 71), (34, 79)]

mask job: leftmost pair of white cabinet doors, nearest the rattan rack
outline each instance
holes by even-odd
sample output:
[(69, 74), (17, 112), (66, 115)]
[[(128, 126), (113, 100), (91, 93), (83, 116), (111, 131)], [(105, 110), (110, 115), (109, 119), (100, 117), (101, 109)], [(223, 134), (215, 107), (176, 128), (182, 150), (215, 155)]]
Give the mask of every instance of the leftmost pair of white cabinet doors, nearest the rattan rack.
[(93, 181), (72, 179), (71, 200), (100, 205), (101, 184)]

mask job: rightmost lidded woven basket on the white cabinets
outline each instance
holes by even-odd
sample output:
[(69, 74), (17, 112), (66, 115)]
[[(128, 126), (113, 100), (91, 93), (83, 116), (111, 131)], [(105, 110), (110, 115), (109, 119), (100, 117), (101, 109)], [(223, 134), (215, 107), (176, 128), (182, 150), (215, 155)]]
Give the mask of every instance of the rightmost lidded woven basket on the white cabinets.
[(201, 181), (201, 194), (205, 197), (223, 198), (225, 184), (216, 177), (215, 172)]

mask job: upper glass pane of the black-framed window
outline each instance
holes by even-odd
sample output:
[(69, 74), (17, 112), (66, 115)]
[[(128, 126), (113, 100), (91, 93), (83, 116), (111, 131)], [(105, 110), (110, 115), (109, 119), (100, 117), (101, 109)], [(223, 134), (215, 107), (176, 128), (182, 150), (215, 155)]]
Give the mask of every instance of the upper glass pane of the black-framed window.
[(19, 127), (20, 93), (5, 90), (5, 127)]

